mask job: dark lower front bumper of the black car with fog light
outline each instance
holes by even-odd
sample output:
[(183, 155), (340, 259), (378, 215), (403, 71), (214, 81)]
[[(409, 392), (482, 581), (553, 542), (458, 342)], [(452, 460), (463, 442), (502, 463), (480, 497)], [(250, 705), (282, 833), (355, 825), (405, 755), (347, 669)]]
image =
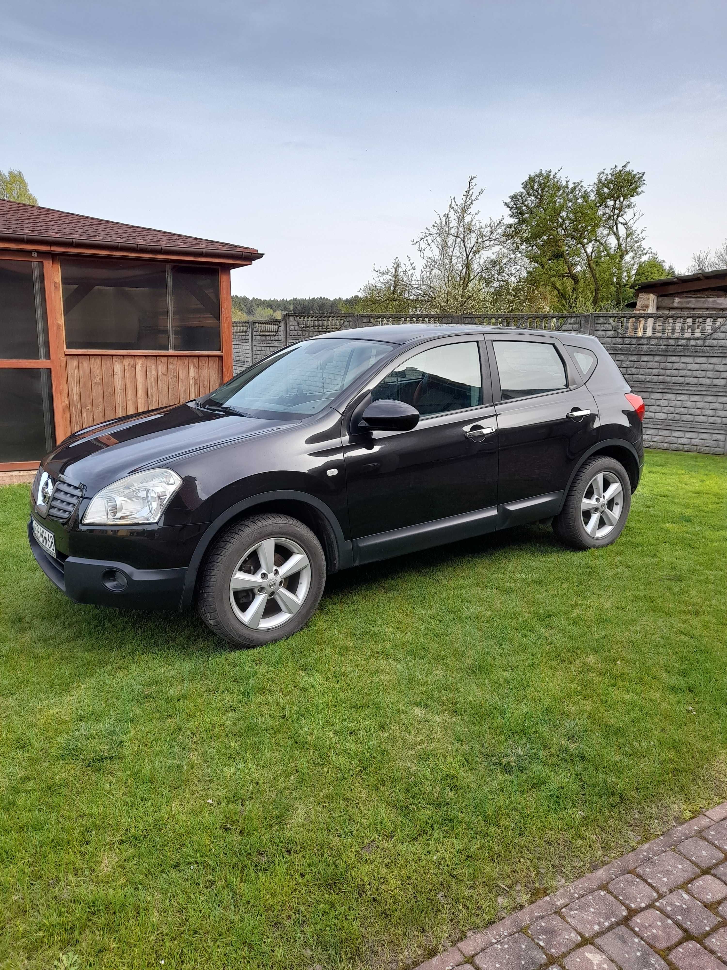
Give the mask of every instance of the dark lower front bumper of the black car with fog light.
[(186, 567), (137, 569), (99, 559), (53, 559), (38, 544), (28, 523), (28, 542), (36, 563), (48, 579), (78, 603), (127, 609), (179, 609)]

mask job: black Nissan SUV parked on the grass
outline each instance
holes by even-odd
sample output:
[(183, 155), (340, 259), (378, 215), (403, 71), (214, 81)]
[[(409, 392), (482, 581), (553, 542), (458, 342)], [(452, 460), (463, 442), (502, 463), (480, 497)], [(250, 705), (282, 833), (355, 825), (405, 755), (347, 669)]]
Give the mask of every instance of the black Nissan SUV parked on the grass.
[(195, 602), (253, 646), (300, 630), (337, 569), (550, 519), (568, 545), (608, 545), (643, 416), (593, 337), (340, 331), (70, 436), (38, 470), (28, 537), (77, 602)]

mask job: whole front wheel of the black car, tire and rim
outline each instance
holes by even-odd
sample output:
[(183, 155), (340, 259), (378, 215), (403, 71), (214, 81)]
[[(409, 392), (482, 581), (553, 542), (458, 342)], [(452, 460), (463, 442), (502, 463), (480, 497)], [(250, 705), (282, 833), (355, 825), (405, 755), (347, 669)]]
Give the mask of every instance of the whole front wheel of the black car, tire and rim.
[(304, 627), (325, 585), (326, 558), (316, 536), (298, 519), (267, 512), (237, 522), (217, 539), (197, 609), (228, 643), (259, 647)]

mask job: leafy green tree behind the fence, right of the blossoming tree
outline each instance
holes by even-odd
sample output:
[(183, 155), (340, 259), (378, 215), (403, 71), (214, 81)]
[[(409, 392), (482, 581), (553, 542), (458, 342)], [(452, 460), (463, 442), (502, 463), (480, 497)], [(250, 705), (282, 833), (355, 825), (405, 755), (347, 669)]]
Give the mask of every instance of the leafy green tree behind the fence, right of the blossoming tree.
[(650, 255), (636, 208), (645, 184), (628, 162), (599, 172), (592, 185), (549, 169), (506, 200), (505, 236), (551, 308), (620, 308), (631, 299), (636, 270)]

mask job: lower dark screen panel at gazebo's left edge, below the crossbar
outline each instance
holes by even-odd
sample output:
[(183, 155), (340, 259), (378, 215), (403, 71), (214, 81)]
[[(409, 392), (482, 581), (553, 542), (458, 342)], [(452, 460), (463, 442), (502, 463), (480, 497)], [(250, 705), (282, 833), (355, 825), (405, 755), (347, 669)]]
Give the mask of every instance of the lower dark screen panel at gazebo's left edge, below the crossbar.
[(52, 447), (50, 372), (0, 368), (0, 462), (37, 462)]

